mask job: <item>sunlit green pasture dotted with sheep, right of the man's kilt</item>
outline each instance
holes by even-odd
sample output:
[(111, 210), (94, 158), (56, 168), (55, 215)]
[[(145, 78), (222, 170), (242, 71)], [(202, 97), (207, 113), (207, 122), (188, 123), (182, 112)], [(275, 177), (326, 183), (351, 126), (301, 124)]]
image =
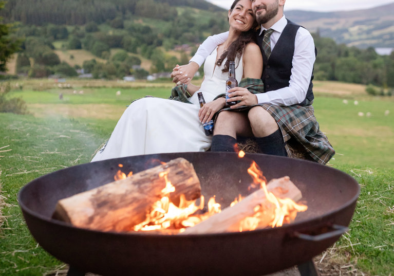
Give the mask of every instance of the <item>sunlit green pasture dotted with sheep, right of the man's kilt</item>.
[[(316, 118), (337, 153), (330, 163), (394, 168), (394, 101), (377, 98), (357, 103), (328, 97), (315, 100)], [(391, 113), (386, 115), (387, 111)]]

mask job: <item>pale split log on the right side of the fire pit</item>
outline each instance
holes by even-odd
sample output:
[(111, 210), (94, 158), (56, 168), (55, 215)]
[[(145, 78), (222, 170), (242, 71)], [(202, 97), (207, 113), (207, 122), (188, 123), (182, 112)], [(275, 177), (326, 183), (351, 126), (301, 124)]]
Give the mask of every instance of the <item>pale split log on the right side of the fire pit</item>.
[[(293, 201), (298, 201), (302, 198), (301, 191), (290, 181), (288, 176), (272, 179), (267, 184), (267, 191), (281, 199), (290, 198)], [(265, 212), (264, 219), (260, 220), (257, 228), (269, 226), (273, 220), (275, 207), (267, 199), (265, 191), (259, 189), (243, 198), (234, 206), (223, 209), (220, 213), (203, 220), (193, 227), (186, 228), (181, 234), (238, 232), (240, 223), (255, 214), (256, 206)]]

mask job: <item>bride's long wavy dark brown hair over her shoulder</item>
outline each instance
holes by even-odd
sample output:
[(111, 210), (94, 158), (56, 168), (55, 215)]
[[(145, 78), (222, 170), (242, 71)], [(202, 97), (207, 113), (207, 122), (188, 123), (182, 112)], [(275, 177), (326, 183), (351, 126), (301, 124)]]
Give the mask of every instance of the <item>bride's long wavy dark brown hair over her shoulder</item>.
[[(235, 0), (233, 2), (233, 5), (231, 5), (230, 11), (233, 12), (235, 5), (240, 0)], [(229, 18), (227, 18), (229, 20)], [(252, 27), (250, 28), (249, 31), (242, 32), (239, 36), (238, 39), (233, 41), (233, 43), (230, 44), (229, 48), (226, 51), (223, 51), (221, 54), (220, 58), (217, 60), (216, 65), (220, 66), (224, 59), (227, 58), (226, 63), (224, 63), (224, 68), (222, 69), (222, 72), (228, 72), (229, 67), (230, 67), (230, 61), (235, 61), (236, 58), (239, 59), (241, 58), (243, 51), (245, 50), (246, 45), (249, 42), (256, 42), (256, 34), (255, 34), (255, 28), (258, 26), (256, 20), (254, 21)]]

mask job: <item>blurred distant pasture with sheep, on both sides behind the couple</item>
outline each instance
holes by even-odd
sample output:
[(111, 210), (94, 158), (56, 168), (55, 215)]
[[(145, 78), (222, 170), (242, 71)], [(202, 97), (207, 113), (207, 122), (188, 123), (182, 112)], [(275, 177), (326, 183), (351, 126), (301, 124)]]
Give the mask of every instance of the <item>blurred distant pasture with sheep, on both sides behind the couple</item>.
[[(109, 119), (114, 120), (112, 127), (133, 100), (146, 95), (167, 98), (174, 86), (170, 80), (71, 79), (65, 83), (25, 80), (18, 84), (24, 89), (15, 90), (13, 95), (23, 97), (37, 117), (58, 114), (68, 118)], [(387, 149), (394, 148), (394, 97), (371, 97), (363, 85), (339, 82), (316, 81), (314, 89), (315, 116), (337, 153), (331, 164), (394, 167), (394, 158), (386, 154)], [(120, 95), (116, 95), (117, 92)], [(59, 100), (60, 93), (62, 100)]]

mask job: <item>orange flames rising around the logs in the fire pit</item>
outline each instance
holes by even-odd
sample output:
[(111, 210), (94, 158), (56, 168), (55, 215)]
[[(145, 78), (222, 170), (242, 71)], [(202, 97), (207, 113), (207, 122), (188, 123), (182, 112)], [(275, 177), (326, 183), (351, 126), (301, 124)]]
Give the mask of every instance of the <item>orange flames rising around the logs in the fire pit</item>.
[[(245, 156), (245, 153), (242, 154), (241, 152), (239, 155)], [(255, 206), (253, 210), (254, 215), (245, 217), (240, 221), (240, 232), (252, 231), (262, 226), (266, 227), (267, 225), (270, 227), (280, 227), (284, 223), (291, 223), (295, 219), (297, 212), (303, 212), (308, 209), (307, 206), (298, 205), (289, 198), (277, 198), (273, 193), (268, 192), (266, 186), (267, 180), (256, 162), (252, 162), (248, 173), (253, 179), (253, 183), (251, 183), (249, 189), (262, 189), (271, 204)], [(126, 177), (120, 171), (118, 171), (117, 175)], [(215, 197), (211, 197), (207, 204), (208, 211), (202, 213), (201, 210), (204, 208), (204, 197), (202, 195), (197, 199), (200, 200), (199, 204), (196, 204), (197, 200), (186, 200), (184, 195), (180, 195), (179, 206), (174, 205), (170, 199), (170, 193), (175, 191), (175, 187), (171, 181), (168, 181), (167, 175), (168, 172), (159, 174), (159, 177), (164, 178), (165, 181), (165, 187), (161, 190), (160, 194), (161, 199), (154, 203), (151, 211), (146, 215), (144, 222), (134, 226), (134, 231), (168, 230), (179, 233), (183, 232), (186, 227), (193, 227), (202, 222), (202, 220), (221, 212), (220, 204), (216, 203)], [(242, 196), (239, 195), (230, 206), (234, 206), (241, 200)]]

